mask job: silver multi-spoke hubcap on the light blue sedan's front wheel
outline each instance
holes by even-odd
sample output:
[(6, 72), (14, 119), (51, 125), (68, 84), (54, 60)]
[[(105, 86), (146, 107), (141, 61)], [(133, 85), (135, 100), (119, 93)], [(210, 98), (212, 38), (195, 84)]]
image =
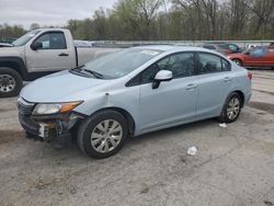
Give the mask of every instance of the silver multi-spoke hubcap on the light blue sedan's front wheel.
[(114, 119), (99, 123), (91, 134), (91, 145), (100, 153), (114, 150), (121, 142), (123, 128)]

